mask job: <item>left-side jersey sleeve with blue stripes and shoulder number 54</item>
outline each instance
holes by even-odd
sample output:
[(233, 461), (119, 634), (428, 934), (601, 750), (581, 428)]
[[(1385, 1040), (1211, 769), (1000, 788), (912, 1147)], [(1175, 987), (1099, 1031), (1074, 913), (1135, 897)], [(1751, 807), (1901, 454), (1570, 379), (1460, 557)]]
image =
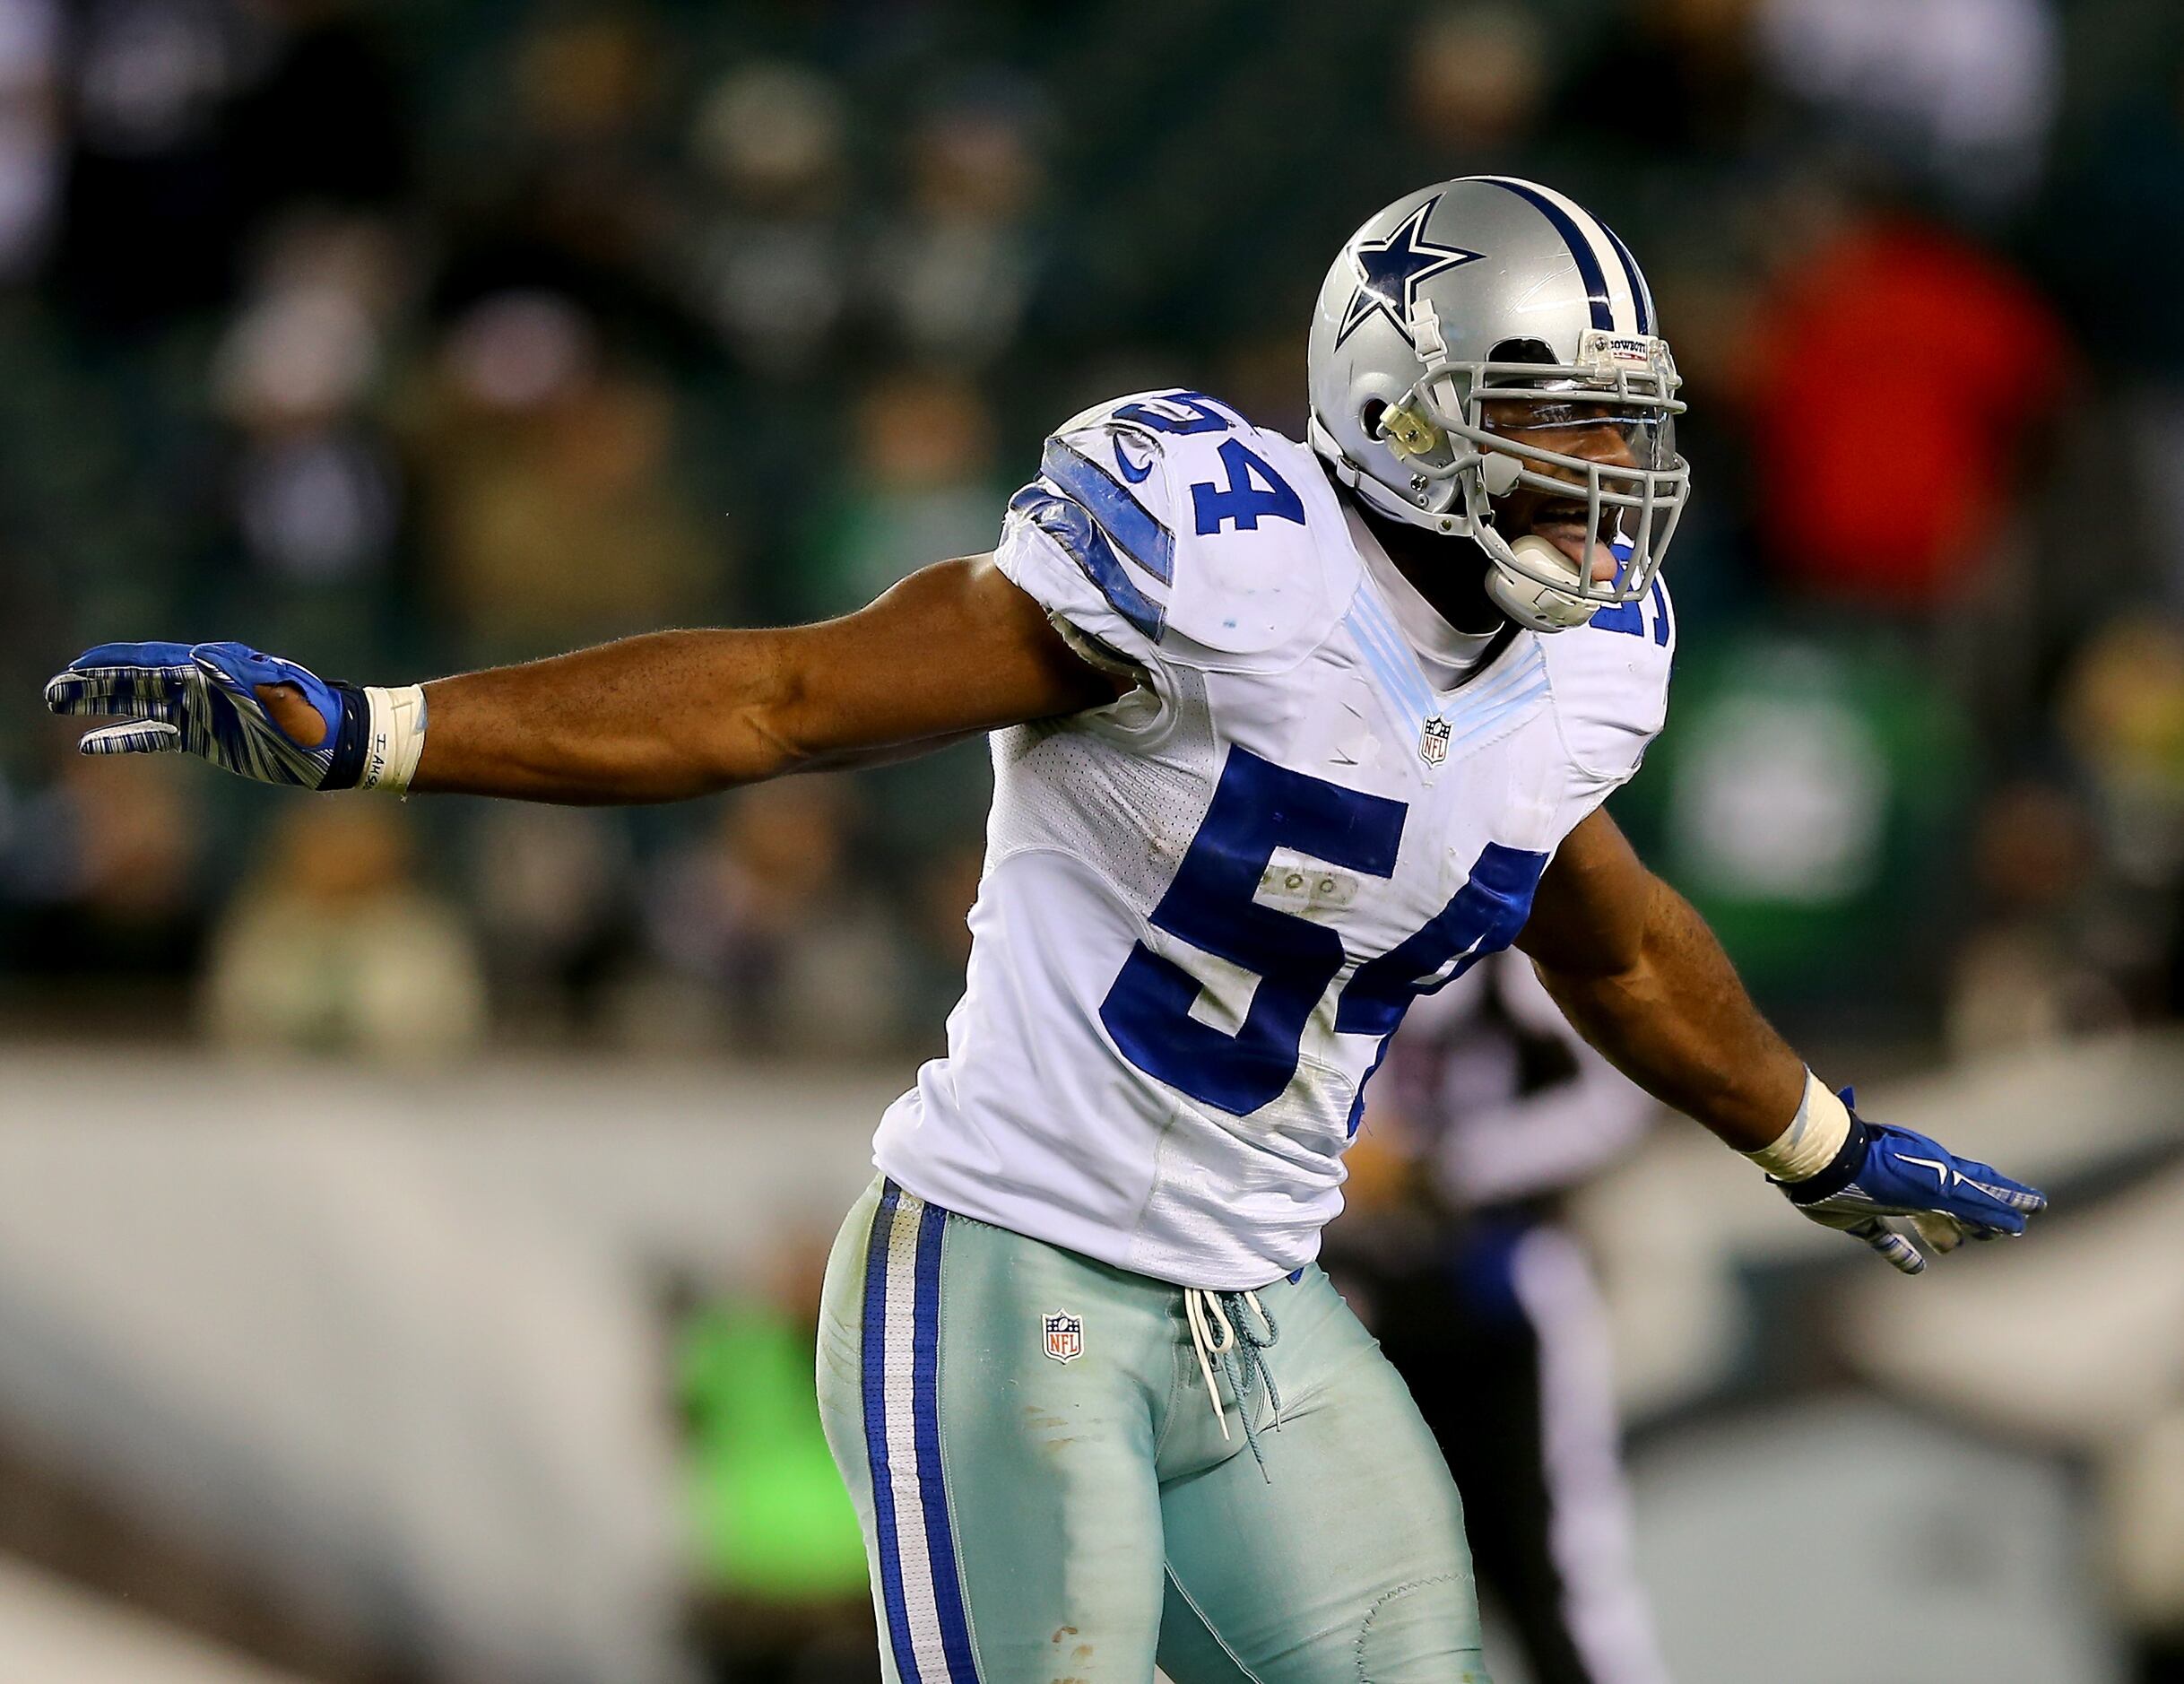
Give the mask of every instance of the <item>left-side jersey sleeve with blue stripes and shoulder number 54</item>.
[(1094, 660), (1284, 671), (1354, 590), (1341, 531), (1308, 450), (1203, 393), (1140, 393), (1046, 439), (996, 561)]

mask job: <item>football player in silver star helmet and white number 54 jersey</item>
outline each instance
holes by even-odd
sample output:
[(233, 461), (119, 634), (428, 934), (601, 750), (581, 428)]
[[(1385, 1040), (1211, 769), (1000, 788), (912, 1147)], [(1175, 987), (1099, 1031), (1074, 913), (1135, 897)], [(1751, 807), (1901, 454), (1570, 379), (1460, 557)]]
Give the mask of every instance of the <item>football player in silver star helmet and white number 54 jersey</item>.
[(1066, 422), (992, 555), (786, 631), (426, 686), (103, 644), (87, 754), (308, 788), (668, 802), (992, 734), (963, 1000), (880, 1120), (819, 1394), (887, 1673), (1485, 1677), (1461, 1509), (1315, 1265), (1404, 1007), (1518, 941), (1570, 1020), (1900, 1269), (2031, 1188), (1861, 1120), (1601, 802), (1662, 725), (1688, 489), (1629, 251), (1500, 177), (1389, 205), (1310, 443), (1166, 391)]

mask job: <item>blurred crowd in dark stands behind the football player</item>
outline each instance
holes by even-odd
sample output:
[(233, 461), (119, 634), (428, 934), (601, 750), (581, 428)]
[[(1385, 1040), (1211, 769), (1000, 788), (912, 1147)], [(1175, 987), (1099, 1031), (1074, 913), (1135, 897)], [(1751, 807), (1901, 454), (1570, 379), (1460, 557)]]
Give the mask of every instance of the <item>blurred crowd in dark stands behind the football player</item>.
[[(1867, 1075), (2173, 1022), (2173, 4), (0, 0), (0, 1035), (893, 1079), (959, 987), (978, 745), (677, 810), (306, 804), (83, 762), (39, 684), (852, 609), (987, 548), (1083, 404), (1302, 437), (1330, 256), (1474, 170), (1658, 293), (1697, 496), (1616, 813), (1762, 1005)], [(795, 1437), (780, 1321), (708, 1293), (662, 1286), (699, 1442)]]

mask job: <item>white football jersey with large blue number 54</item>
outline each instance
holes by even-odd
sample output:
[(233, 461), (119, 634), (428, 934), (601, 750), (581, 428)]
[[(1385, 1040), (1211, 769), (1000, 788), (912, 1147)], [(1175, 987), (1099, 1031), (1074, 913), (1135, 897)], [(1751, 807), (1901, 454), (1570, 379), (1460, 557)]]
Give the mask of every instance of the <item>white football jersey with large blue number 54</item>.
[(992, 738), (948, 1057), (874, 1147), (911, 1193), (1186, 1286), (1317, 1254), (1404, 1007), (1524, 926), (1675, 653), (1655, 585), (1437, 692), (1365, 546), (1306, 446), (1203, 393), (1046, 441), (998, 566), (1147, 688)]

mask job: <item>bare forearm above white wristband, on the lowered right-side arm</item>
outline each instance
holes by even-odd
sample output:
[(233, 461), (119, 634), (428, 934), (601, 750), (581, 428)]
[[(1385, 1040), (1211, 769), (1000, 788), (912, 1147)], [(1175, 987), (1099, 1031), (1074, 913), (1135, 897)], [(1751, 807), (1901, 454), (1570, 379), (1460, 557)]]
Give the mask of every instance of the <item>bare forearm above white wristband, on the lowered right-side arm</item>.
[(1804, 1099), (1804, 1059), (1752, 1005), (1706, 922), (1647, 874), (1627, 963), (1555, 968), (1540, 981), (1570, 1024), (1660, 1103), (1736, 1151), (1771, 1145)]

